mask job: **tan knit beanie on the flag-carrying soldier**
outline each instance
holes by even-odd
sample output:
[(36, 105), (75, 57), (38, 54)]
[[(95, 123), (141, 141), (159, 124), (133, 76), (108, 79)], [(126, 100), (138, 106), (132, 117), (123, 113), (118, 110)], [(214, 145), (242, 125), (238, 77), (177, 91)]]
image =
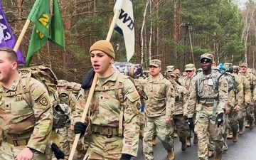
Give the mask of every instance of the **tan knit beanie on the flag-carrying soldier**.
[(114, 58), (114, 48), (112, 44), (107, 40), (100, 40), (95, 42), (90, 47), (90, 53), (92, 52), (92, 50), (100, 50), (109, 55), (110, 57)]

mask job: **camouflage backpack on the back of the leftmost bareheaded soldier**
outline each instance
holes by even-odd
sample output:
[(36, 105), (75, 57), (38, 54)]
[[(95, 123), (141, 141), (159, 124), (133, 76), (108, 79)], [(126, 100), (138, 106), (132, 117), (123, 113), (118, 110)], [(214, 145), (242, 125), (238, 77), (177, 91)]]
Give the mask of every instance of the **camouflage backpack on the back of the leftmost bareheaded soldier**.
[(27, 88), (30, 78), (38, 80), (46, 87), (50, 101), (53, 105), (57, 105), (59, 103), (57, 90), (58, 79), (53, 73), (53, 70), (43, 65), (38, 65), (31, 66), (29, 68), (21, 68), (18, 71), (21, 73), (21, 88), (23, 90), (21, 95), (29, 106), (32, 106), (32, 98)]

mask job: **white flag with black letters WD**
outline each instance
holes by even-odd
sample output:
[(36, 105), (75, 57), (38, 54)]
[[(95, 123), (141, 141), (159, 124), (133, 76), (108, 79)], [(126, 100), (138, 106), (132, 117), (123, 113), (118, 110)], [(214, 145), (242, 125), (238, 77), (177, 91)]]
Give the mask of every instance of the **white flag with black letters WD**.
[(117, 0), (114, 5), (115, 9), (120, 10), (119, 17), (117, 18), (117, 26), (114, 28), (118, 33), (124, 36), (124, 43), (127, 52), (127, 62), (134, 55), (135, 47), (135, 33), (134, 33), (134, 16), (131, 0)]

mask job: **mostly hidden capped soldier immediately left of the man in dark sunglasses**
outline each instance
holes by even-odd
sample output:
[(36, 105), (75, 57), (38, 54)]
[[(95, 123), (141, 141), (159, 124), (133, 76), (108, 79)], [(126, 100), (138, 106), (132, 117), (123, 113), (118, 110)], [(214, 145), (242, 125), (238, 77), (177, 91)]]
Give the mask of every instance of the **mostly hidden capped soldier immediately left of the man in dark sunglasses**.
[[(186, 72), (186, 77), (180, 78), (178, 80), (178, 82), (180, 82), (181, 85), (183, 87), (186, 87), (186, 90), (188, 90), (189, 86), (191, 85), (192, 78), (195, 77), (195, 75), (196, 75), (195, 65), (187, 64), (185, 66), (185, 72)], [(193, 114), (193, 120), (194, 121), (196, 120), (196, 114)], [(193, 125), (191, 125), (191, 127), (190, 127), (190, 135), (191, 135), (191, 132), (194, 132)], [(188, 147), (191, 146), (191, 137), (188, 137), (186, 143), (187, 143), (186, 145)], [(197, 144), (197, 143), (198, 143), (198, 138), (197, 138), (197, 135), (194, 134), (193, 144)]]

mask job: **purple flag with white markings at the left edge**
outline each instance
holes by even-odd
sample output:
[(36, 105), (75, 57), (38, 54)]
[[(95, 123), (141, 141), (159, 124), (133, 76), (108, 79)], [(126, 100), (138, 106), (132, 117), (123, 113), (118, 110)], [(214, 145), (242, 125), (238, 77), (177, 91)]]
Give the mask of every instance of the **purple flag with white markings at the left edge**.
[[(0, 47), (8, 47), (14, 49), (16, 44), (16, 40), (14, 38), (14, 33), (11, 31), (11, 27), (9, 23), (6, 21), (6, 17), (4, 15), (4, 10), (1, 5), (0, 0)], [(25, 59), (23, 58), (21, 51), (17, 51), (18, 63), (25, 64)]]

